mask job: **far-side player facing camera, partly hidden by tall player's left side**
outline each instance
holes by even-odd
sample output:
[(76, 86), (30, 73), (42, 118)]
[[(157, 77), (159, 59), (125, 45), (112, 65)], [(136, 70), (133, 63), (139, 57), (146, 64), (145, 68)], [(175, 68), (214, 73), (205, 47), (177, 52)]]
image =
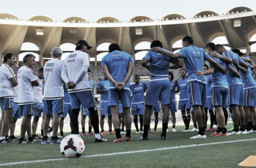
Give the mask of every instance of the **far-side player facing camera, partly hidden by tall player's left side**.
[[(185, 69), (181, 69), (181, 79), (177, 81), (177, 90), (175, 91), (175, 93), (180, 92), (178, 109), (181, 110), (181, 115), (183, 117), (183, 122), (185, 124), (185, 130), (183, 130), (183, 132), (189, 132), (189, 124), (191, 120), (186, 76), (187, 76), (187, 71)], [(195, 131), (196, 129), (197, 129), (197, 124), (195, 123), (194, 128), (192, 130)]]

